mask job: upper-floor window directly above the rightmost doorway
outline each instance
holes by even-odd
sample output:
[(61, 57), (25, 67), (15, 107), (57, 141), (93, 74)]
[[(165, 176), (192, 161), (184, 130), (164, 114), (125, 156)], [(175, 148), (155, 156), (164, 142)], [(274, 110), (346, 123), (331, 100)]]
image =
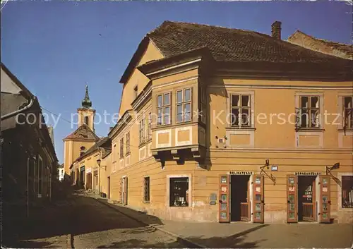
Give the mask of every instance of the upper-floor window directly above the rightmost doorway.
[(300, 96), (299, 128), (320, 128), (320, 97)]

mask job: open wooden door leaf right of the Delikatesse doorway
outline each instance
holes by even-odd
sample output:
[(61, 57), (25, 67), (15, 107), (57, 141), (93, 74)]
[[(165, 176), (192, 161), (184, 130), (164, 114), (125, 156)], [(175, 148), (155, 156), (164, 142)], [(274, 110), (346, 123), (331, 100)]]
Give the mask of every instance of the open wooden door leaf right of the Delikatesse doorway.
[(263, 176), (253, 176), (253, 223), (263, 223)]

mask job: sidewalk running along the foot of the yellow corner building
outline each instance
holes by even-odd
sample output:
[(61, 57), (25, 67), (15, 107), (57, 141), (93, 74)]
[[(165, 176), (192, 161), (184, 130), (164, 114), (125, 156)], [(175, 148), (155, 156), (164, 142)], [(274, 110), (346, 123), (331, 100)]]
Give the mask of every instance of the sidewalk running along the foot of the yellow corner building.
[(96, 200), (146, 226), (175, 236), (191, 248), (351, 248), (353, 224), (220, 224), (160, 220), (134, 209)]

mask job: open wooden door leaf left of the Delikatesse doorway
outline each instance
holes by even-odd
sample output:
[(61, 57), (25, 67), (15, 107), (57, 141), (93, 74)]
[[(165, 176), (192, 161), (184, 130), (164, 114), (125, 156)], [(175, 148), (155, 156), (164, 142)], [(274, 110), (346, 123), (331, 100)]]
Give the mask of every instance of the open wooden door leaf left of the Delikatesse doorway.
[(219, 221), (229, 222), (229, 175), (220, 175)]

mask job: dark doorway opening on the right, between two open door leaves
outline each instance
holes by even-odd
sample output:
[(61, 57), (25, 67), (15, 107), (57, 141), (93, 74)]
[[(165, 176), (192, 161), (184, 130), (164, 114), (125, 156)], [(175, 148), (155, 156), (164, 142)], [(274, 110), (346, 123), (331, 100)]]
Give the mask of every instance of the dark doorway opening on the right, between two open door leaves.
[(316, 176), (298, 177), (298, 221), (316, 221)]

